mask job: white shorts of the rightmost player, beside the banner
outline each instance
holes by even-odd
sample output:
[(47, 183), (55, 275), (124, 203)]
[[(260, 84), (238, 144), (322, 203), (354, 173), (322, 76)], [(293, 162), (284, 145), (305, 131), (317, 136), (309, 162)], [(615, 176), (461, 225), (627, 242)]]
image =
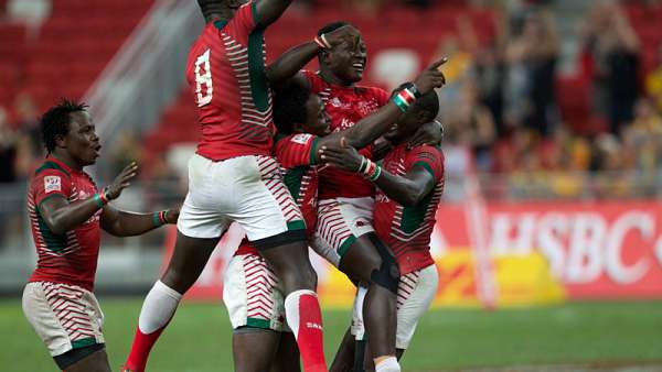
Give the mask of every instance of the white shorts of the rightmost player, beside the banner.
[[(397, 288), (397, 332), (395, 347), (407, 349), (418, 319), (428, 310), (437, 294), (439, 274), (436, 265), (412, 272), (401, 277)], [(352, 314), (352, 335), (356, 340), (362, 340), (365, 333), (363, 325), (363, 298), (365, 288), (360, 288), (354, 299)]]

